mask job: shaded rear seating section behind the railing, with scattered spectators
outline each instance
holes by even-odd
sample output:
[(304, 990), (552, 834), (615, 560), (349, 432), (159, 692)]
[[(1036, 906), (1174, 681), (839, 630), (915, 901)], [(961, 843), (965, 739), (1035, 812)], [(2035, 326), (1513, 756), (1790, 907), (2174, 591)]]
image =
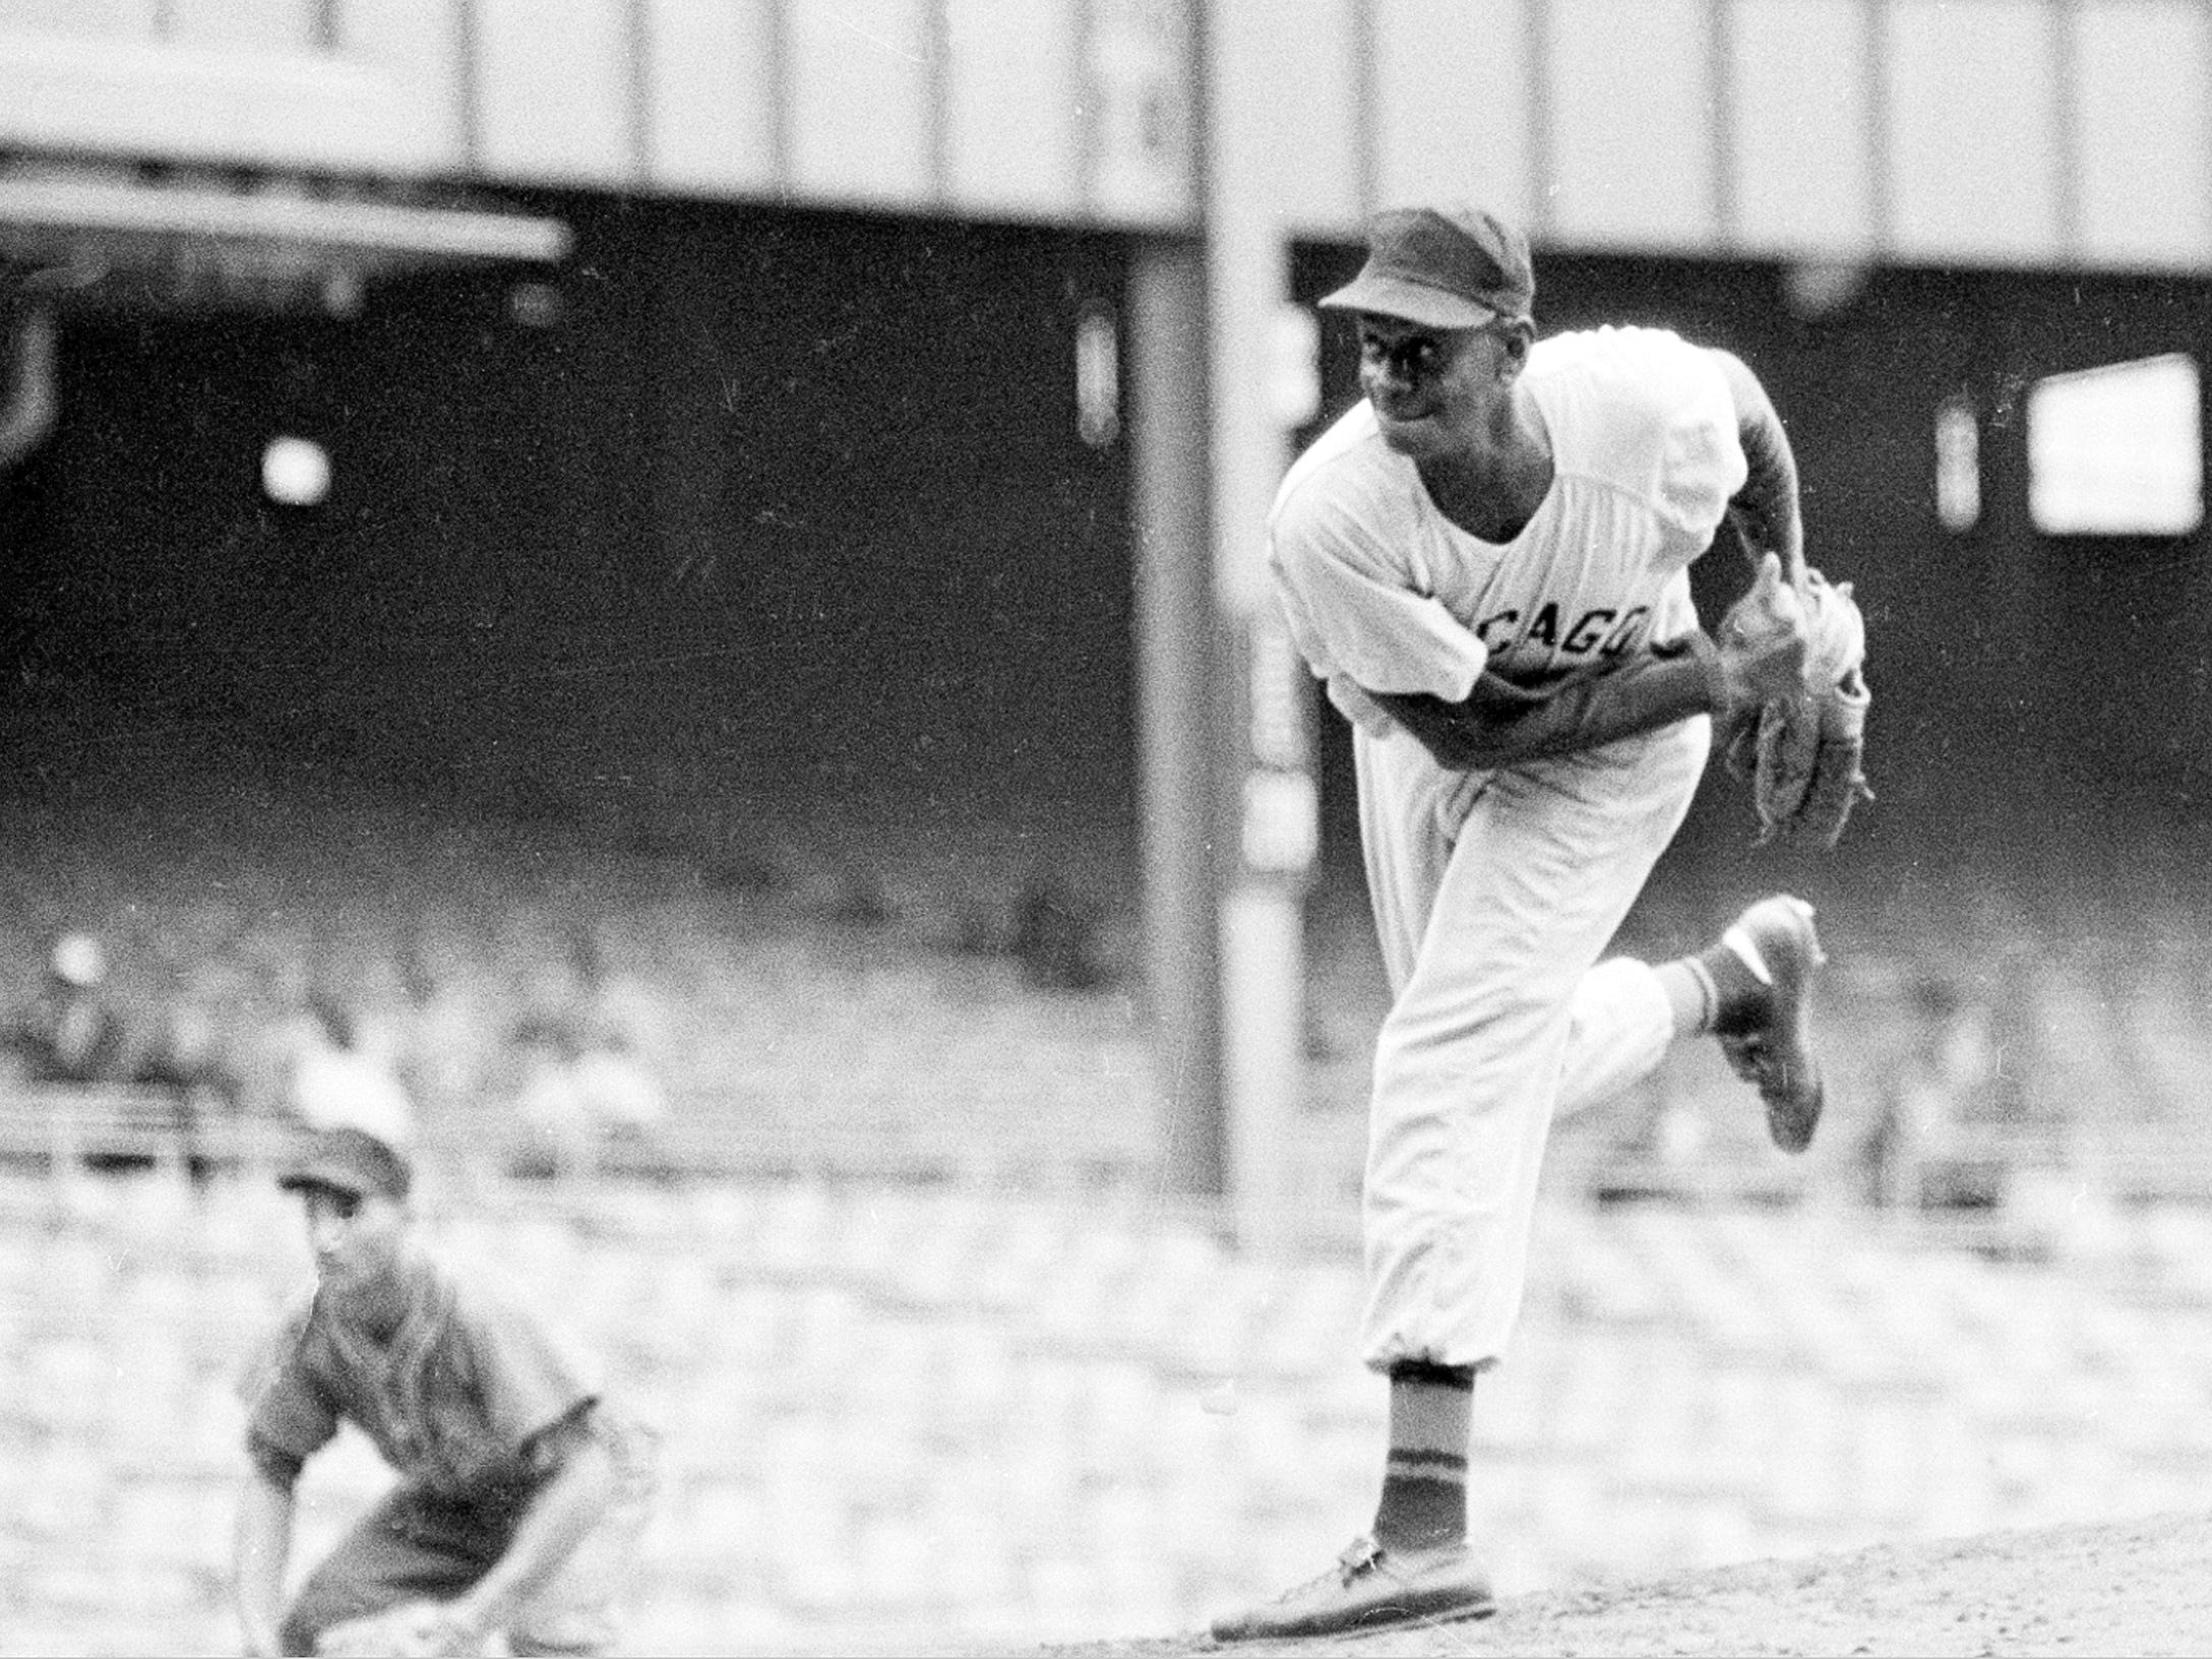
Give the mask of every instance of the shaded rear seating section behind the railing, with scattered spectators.
[[(1159, 1079), (1117, 832), (1037, 818), (931, 847), (896, 821), (838, 825), (823, 836), (754, 807), (644, 834), (237, 781), (31, 803), (0, 827), (0, 998), (29, 995), (55, 931), (91, 929), (139, 1031), (179, 998), (201, 1004), (254, 1117), (283, 1022), (336, 987), (400, 1064), (425, 1135), (491, 1164), (515, 1133), (515, 1033), (588, 998), (666, 1091), (661, 1168), (1157, 1186)], [(1022, 956), (1018, 911), (1040, 872), (1088, 929), (1099, 982), (1055, 984)], [(1991, 1073), (1958, 1091), (1947, 1157), (2086, 1172), (2121, 1197), (2212, 1197), (2194, 1135), (2212, 1086), (2212, 925), (2192, 925), (2212, 900), (2179, 860), (2146, 852), (2139, 874), (2066, 898), (2066, 872), (2013, 872), (2033, 905), (1924, 872), (1825, 900), (1834, 1088), (1814, 1155), (1772, 1157), (1741, 1086), (1692, 1044), (1635, 1097), (1564, 1124), (1555, 1179), (1863, 1194), (1900, 1064), (1929, 1040), (1918, 1002), (1938, 987), (1991, 1053)], [(1701, 942), (1734, 898), (1661, 880), (1624, 947)], [(1385, 1000), (1358, 880), (1334, 876), (1307, 925), (1298, 1157), (1316, 1208), (1358, 1181)], [(0, 1128), (11, 1113), (20, 1102), (0, 1106)]]

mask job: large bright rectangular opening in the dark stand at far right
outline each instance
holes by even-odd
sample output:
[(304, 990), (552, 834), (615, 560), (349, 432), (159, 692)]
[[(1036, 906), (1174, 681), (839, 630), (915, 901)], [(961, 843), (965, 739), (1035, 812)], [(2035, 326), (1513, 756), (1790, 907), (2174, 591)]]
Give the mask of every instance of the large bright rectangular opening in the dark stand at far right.
[(2205, 515), (2197, 361), (2172, 352), (2028, 392), (2028, 513), (2044, 535), (2188, 535)]

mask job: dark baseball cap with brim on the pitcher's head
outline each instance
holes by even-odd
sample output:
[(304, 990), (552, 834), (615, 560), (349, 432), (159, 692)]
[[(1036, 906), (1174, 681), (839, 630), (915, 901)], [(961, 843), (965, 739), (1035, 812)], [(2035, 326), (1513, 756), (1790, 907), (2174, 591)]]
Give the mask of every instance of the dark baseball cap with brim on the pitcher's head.
[(1528, 316), (1528, 239), (1484, 208), (1385, 208), (1367, 221), (1367, 263), (1323, 307), (1402, 316), (1425, 327), (1482, 327)]

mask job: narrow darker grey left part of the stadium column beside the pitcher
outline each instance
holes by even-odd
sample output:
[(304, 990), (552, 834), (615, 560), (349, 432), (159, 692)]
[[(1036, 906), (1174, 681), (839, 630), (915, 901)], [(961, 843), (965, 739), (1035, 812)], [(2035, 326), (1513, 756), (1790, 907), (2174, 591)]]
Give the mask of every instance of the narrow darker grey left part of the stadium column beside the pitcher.
[(1137, 520), (1137, 726), (1146, 984), (1168, 1121), (1168, 1186), (1225, 1188), (1217, 803), (1221, 648), (1212, 595), (1206, 250), (1144, 239), (1128, 283)]

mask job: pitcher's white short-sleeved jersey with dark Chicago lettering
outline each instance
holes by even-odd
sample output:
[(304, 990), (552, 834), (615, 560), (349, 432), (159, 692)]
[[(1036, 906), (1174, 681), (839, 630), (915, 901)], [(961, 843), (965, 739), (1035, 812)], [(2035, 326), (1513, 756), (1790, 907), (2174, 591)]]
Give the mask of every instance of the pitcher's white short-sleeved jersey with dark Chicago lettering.
[(1719, 365), (1668, 330), (1599, 327), (1537, 341), (1522, 383), (1553, 482), (1511, 542), (1444, 518), (1365, 398), (1276, 491), (1292, 639), (1369, 730), (1391, 721), (1367, 692), (1455, 703), (1484, 668), (1551, 686), (1697, 628), (1690, 562), (1747, 473)]

